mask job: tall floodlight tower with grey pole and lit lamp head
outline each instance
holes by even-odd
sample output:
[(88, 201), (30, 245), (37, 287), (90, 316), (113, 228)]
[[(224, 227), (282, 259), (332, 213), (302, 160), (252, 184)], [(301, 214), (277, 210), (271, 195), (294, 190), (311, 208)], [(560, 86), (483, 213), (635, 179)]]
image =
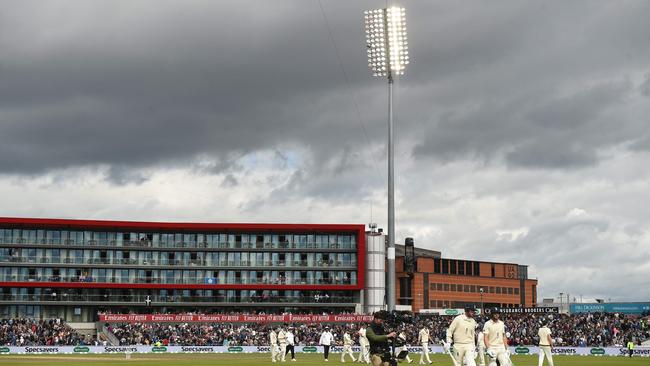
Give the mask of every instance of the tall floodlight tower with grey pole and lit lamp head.
[(388, 281), (386, 303), (395, 310), (395, 148), (393, 140), (393, 78), (409, 63), (406, 11), (400, 7), (365, 11), (368, 66), (373, 76), (388, 79)]

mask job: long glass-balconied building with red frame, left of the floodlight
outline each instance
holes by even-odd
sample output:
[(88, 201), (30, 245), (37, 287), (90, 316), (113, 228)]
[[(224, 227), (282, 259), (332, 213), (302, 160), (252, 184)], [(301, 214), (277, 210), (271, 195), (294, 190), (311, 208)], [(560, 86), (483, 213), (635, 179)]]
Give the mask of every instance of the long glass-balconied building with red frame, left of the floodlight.
[(354, 312), (364, 225), (0, 218), (0, 318)]

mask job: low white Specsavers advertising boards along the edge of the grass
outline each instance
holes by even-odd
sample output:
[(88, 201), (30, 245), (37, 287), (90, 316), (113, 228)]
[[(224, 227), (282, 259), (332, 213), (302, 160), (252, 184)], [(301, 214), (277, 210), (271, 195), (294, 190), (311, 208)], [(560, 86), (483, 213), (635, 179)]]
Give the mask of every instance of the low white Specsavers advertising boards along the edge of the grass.
[[(409, 353), (420, 353), (422, 347), (408, 346)], [(431, 353), (444, 353), (442, 347), (430, 346)], [(352, 347), (359, 352), (359, 346)], [(339, 353), (343, 347), (334, 346), (330, 352)], [(7, 354), (97, 354), (97, 353), (267, 353), (269, 346), (29, 346), (29, 347), (0, 347), (1, 355)], [(323, 353), (321, 346), (297, 346), (298, 353)], [(538, 347), (510, 347), (515, 355), (533, 355), (539, 352)], [(553, 354), (571, 356), (627, 356), (628, 350), (622, 347), (555, 347)], [(650, 357), (650, 347), (637, 347), (635, 356)]]

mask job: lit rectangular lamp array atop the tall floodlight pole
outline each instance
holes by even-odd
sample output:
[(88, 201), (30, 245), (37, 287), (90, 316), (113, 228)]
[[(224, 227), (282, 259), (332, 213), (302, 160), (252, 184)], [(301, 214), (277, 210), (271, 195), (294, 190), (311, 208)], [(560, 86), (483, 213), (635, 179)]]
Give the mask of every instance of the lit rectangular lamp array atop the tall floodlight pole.
[(405, 9), (367, 10), (365, 25), (368, 66), (373, 75), (404, 75), (409, 63)]

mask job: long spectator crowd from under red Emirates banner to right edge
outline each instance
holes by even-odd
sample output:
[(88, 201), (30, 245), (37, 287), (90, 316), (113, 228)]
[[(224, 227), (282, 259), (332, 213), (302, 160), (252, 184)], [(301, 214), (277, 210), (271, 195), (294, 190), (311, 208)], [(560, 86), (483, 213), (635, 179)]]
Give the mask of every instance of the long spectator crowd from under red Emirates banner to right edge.
[[(553, 315), (550, 328), (556, 346), (568, 347), (608, 347), (623, 346), (629, 339), (640, 344), (650, 339), (647, 320), (640, 317), (625, 317), (618, 314), (576, 314)], [(417, 344), (419, 330), (427, 326), (433, 344), (440, 344), (453, 317), (431, 316), (415, 317), (411, 324), (400, 326), (409, 344)], [(478, 319), (479, 327), (485, 319)], [(504, 316), (509, 342), (512, 346), (537, 345), (537, 331), (540, 327), (539, 315)], [(123, 345), (154, 344), (164, 345), (238, 345), (267, 346), (268, 333), (278, 324), (165, 324), (133, 323), (112, 324), (109, 330)], [(294, 334), (300, 345), (317, 345), (325, 326), (330, 326), (335, 340), (340, 343), (343, 333), (356, 337), (358, 324), (294, 324)], [(356, 339), (358, 344), (358, 339)]]

